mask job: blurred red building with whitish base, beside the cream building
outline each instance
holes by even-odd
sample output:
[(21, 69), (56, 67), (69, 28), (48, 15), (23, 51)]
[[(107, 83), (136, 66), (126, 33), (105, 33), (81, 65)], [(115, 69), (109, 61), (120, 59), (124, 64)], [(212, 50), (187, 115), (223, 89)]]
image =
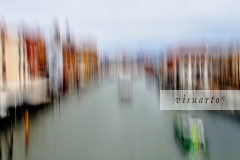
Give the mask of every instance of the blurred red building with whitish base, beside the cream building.
[[(27, 57), (27, 80), (23, 100), (29, 105), (48, 102), (49, 79), (46, 77), (46, 50), (44, 37), (40, 31), (23, 30), (24, 55)], [(26, 66), (25, 66), (26, 67)]]

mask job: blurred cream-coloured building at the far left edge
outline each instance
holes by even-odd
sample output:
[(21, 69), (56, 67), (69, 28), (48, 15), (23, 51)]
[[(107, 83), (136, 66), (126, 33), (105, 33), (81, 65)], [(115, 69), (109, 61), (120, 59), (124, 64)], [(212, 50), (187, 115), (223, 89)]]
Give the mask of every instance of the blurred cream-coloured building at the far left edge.
[(23, 84), (27, 72), (24, 59), (24, 42), (21, 31), (15, 27), (0, 26), (0, 116), (7, 116), (8, 107), (16, 107), (23, 103)]

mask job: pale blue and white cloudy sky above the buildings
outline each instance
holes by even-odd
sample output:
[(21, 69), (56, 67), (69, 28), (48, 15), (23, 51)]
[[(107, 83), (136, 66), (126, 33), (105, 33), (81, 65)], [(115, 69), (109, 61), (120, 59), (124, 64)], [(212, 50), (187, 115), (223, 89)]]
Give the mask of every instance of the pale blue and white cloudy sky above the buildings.
[(48, 30), (66, 19), (74, 37), (93, 37), (100, 50), (153, 49), (182, 40), (240, 37), (239, 0), (0, 0), (0, 20)]

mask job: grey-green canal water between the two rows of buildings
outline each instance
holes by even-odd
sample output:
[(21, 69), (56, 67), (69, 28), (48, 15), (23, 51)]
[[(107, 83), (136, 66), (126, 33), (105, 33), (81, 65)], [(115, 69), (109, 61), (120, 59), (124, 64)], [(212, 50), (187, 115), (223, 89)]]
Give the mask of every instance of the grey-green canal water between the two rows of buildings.
[[(13, 160), (183, 160), (174, 140), (174, 111), (160, 111), (154, 77), (133, 80), (122, 102), (117, 81), (72, 91), (41, 107), (11, 110), (0, 121), (0, 158)], [(212, 160), (238, 160), (240, 119), (216, 111), (202, 118)]]

